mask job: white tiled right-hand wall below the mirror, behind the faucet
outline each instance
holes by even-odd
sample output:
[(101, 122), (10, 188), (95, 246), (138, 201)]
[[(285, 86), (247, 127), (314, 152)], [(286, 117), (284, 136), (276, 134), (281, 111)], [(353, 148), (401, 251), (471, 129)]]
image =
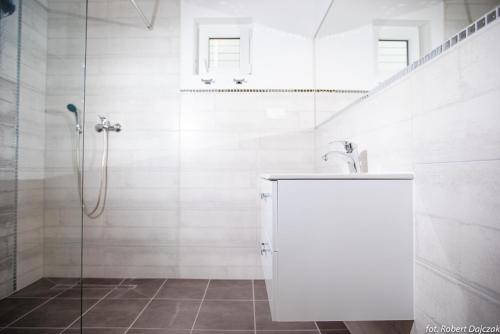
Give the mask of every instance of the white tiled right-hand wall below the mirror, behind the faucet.
[(317, 157), (349, 139), (371, 172), (415, 173), (416, 333), (500, 314), (500, 24), (483, 29), (316, 131)]

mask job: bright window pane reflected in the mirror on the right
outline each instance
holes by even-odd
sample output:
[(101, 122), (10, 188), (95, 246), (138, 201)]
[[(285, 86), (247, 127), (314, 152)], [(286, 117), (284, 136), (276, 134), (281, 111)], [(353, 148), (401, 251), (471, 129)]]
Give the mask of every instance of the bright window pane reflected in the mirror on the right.
[(409, 65), (408, 40), (378, 41), (378, 69), (384, 77), (389, 77)]

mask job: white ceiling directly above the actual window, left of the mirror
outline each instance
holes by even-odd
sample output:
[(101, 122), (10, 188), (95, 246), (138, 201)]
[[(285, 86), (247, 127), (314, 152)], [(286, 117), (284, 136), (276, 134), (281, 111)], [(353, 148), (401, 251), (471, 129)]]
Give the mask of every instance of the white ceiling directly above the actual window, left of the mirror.
[(234, 17), (251, 17), (293, 34), (315, 35), (331, 0), (184, 0)]

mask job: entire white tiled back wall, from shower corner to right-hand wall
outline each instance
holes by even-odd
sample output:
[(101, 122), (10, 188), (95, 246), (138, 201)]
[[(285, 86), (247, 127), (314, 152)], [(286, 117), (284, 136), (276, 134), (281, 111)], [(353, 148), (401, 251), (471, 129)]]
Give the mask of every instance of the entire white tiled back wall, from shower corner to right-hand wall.
[[(150, 13), (153, 1), (141, 1)], [(81, 103), (81, 31), (51, 0), (45, 273), (79, 275), (80, 216), (72, 115)], [(84, 219), (84, 276), (260, 277), (258, 175), (313, 168), (313, 93), (180, 93), (179, 1), (161, 1), (153, 31), (126, 0), (89, 2), (85, 198), (97, 194), (110, 134), (104, 215)], [(59, 14), (58, 14), (59, 13)], [(53, 56), (52, 56), (53, 55)]]

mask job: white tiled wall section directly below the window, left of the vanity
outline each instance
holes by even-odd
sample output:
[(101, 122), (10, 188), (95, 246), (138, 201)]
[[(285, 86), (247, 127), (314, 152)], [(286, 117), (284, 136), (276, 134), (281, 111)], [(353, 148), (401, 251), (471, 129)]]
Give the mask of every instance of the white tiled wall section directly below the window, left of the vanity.
[(310, 171), (312, 93), (183, 93), (180, 275), (260, 277), (260, 173)]

